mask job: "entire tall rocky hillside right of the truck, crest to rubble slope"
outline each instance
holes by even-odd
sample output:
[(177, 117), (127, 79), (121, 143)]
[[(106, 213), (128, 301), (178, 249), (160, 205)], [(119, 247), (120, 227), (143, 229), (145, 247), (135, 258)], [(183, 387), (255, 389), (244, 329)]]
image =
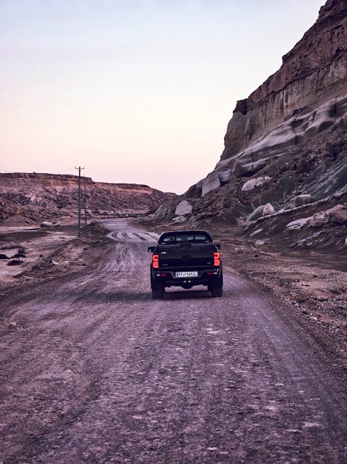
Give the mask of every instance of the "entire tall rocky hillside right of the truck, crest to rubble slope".
[[(346, 26), (346, 1), (328, 0), (316, 23), (283, 56), (280, 70), (237, 102), (225, 148), (212, 173), (183, 197), (172, 198), (155, 217), (166, 215), (189, 224), (219, 218), (248, 227), (260, 216), (281, 216), (286, 211), (279, 221), (282, 228), (271, 226), (271, 233), (284, 234), (291, 213), (297, 219), (300, 211), (310, 217), (320, 214), (319, 208), (343, 206), (347, 193)], [(179, 214), (176, 206), (183, 200), (185, 212)], [(330, 219), (329, 214), (325, 216), (321, 227), (328, 227)], [(345, 227), (341, 221), (333, 227)], [(305, 224), (304, 228), (310, 226)], [(262, 237), (266, 221), (260, 228), (257, 233)], [(252, 227), (248, 230), (255, 232)], [(314, 245), (316, 241), (312, 239)]]

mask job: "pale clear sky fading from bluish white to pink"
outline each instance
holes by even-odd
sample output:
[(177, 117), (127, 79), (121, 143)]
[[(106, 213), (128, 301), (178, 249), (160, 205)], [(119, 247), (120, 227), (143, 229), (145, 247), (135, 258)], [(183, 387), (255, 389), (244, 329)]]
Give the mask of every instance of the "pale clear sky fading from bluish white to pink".
[(323, 0), (0, 0), (0, 172), (183, 193)]

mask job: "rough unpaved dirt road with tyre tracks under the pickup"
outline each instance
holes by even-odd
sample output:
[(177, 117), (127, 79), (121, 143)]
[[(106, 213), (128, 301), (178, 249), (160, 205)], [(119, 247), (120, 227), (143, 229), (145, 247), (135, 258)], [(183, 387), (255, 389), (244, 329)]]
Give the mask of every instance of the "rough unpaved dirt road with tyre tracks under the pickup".
[[(343, 463), (341, 372), (232, 270), (152, 301), (155, 234), (1, 301), (2, 463)], [(203, 289), (203, 287), (201, 287)]]

